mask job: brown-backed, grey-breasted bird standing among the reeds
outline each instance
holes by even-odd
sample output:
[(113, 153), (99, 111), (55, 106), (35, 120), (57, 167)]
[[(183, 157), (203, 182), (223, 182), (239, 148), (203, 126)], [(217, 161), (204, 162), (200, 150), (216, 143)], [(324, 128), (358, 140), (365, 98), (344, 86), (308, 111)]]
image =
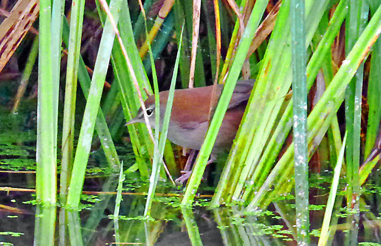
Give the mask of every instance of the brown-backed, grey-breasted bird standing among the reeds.
[[(217, 134), (211, 152), (211, 159), (215, 160), (216, 156), (229, 151), (231, 148), (254, 82), (255, 80), (237, 81), (228, 109)], [(223, 90), (223, 86), (223, 84), (216, 85), (216, 91), (213, 98), (213, 85), (175, 90), (167, 133), (167, 138), (170, 142), (186, 149), (201, 149), (209, 127), (210, 107), (212, 107), (212, 112), (214, 112), (219, 96)], [(163, 125), (168, 94), (168, 90), (159, 93), (159, 129), (161, 129)], [(156, 129), (154, 95), (150, 95), (144, 101), (144, 105), (149, 123), (153, 129)], [(126, 125), (134, 123), (145, 123), (142, 107), (139, 108), (136, 117), (128, 121)]]

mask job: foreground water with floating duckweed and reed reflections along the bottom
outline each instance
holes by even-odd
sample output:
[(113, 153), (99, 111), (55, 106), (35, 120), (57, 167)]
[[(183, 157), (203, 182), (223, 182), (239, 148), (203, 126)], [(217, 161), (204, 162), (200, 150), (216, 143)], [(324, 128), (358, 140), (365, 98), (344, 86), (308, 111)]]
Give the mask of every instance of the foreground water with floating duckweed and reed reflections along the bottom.
[[(115, 188), (112, 180), (116, 179), (106, 180), (104, 191)], [(140, 189), (146, 187), (138, 187), (137, 192)], [(100, 193), (91, 199), (84, 196), (82, 210), (73, 212), (54, 206), (24, 204), (23, 201), (34, 197), (31, 193), (23, 194), (13, 191), (8, 195), (5, 192), (1, 194), (3, 204), (12, 205), (10, 200), (15, 198), (17, 201), (13, 202), (13, 207), (18, 207), (18, 210), (2, 210), (1, 244), (296, 245), (292, 200), (275, 202), (266, 211), (245, 213), (239, 206), (209, 210), (205, 201), (199, 201), (199, 206), (193, 209), (180, 208), (180, 198), (161, 196), (152, 204), (152, 217), (143, 218), (146, 200), (143, 195), (123, 195), (119, 216), (115, 217), (115, 195)], [(353, 209), (342, 207), (345, 200), (341, 196), (335, 204), (327, 245), (380, 243), (378, 207), (367, 207), (365, 202), (378, 196), (379, 193), (373, 196), (368, 193), (360, 199), (360, 217)], [(35, 215), (30, 213), (34, 209)], [(312, 245), (319, 239), (321, 214), (311, 212)], [(360, 218), (359, 224), (353, 223), (356, 217)]]

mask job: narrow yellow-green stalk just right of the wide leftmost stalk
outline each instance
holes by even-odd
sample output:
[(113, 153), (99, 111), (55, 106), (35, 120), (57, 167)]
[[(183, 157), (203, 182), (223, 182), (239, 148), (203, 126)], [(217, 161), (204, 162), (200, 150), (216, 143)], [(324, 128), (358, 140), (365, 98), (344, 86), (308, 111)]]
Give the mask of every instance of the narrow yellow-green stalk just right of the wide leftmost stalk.
[(65, 105), (63, 108), (61, 175), (59, 183), (59, 198), (62, 204), (66, 203), (68, 183), (73, 168), (75, 102), (84, 7), (85, 1), (83, 0), (72, 3), (68, 66), (66, 70)]

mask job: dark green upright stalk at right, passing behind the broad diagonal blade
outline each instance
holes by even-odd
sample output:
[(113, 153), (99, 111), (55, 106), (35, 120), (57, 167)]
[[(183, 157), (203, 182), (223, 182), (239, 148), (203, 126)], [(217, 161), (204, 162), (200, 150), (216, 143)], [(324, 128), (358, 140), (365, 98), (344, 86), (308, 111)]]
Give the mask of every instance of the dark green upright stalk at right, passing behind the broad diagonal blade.
[[(345, 50), (351, 50), (360, 34), (365, 29), (368, 20), (369, 6), (366, 1), (350, 0), (349, 11), (345, 21)], [(355, 221), (350, 223), (351, 232), (348, 233), (347, 240), (351, 243), (357, 241), (359, 223), (359, 204), (357, 198), (360, 196), (359, 166), (360, 166), (360, 129), (361, 129), (361, 100), (363, 84), (364, 62), (357, 69), (355, 77), (348, 84), (345, 90), (345, 125), (348, 132), (348, 142), (346, 148), (347, 167), (347, 207), (354, 207), (356, 214)], [(348, 217), (349, 219), (350, 217)], [(356, 226), (357, 225), (357, 226)]]

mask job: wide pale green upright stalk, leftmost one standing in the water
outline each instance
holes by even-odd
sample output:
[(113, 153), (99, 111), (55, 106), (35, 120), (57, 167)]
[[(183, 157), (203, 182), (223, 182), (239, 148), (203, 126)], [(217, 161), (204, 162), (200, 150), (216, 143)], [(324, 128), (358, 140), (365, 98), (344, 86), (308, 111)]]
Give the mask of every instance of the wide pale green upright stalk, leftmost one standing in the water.
[[(37, 200), (56, 202), (56, 122), (54, 111), (53, 64), (51, 50), (51, 2), (40, 1), (39, 82), (37, 104)], [(58, 83), (58, 82), (56, 82)]]

